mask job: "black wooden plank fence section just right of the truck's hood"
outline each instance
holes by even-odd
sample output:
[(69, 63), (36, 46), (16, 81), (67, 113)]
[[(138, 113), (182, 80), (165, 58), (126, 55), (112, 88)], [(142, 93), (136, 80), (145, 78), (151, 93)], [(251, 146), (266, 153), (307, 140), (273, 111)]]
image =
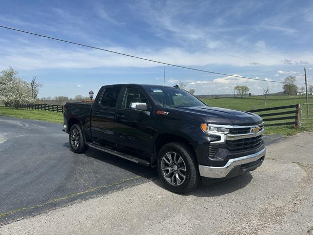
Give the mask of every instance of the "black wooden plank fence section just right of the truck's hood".
[[(265, 123), (265, 126), (294, 125), (294, 127), (298, 129), (299, 106), (300, 106), (299, 104), (294, 104), (294, 105), (279, 106), (279, 107), (272, 107), (272, 108), (265, 108), (265, 109), (254, 109), (254, 110), (249, 110), (248, 112), (257, 113), (257, 115), (262, 117)], [(276, 112), (273, 112), (273, 113), (265, 112), (265, 111), (271, 111), (271, 110), (276, 110)], [(287, 110), (287, 111), (282, 111), (282, 110)], [(273, 116), (275, 117), (273, 118)], [(293, 119), (293, 121), (280, 122), (280, 120), (291, 120), (291, 119)]]

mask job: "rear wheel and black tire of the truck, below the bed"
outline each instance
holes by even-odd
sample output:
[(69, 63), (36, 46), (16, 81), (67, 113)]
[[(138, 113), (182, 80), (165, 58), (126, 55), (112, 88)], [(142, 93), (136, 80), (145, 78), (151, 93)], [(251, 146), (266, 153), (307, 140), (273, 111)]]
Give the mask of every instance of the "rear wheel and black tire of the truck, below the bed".
[(74, 153), (84, 153), (89, 147), (85, 143), (84, 134), (79, 124), (74, 124), (70, 128), (68, 139)]

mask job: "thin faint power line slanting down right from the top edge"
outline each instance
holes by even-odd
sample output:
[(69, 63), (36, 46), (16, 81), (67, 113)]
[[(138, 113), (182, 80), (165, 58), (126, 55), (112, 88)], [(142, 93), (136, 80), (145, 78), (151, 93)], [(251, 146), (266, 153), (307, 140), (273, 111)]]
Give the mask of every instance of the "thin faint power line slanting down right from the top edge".
[(234, 43), (234, 44), (236, 44), (236, 45), (238, 45), (238, 46), (240, 46), (240, 47), (245, 47), (245, 48), (247, 48), (247, 49), (249, 49), (249, 50), (253, 50), (253, 51), (258, 52), (258, 53), (260, 53), (260, 54), (267, 55), (267, 56), (272, 57), (272, 58), (274, 58), (274, 59), (283, 61), (283, 60), (280, 59), (280, 58), (277, 58), (277, 57), (272, 56), (272, 55), (270, 55), (270, 54), (267, 54), (267, 53), (264, 53), (264, 52), (262, 52), (262, 51), (256, 50), (256, 49), (254, 49), (254, 48), (247, 47), (247, 46), (245, 46), (245, 45), (243, 45), (243, 44), (237, 43), (237, 42), (235, 42), (235, 41), (233, 41), (233, 40), (231, 40), (231, 39), (225, 38), (225, 37), (222, 36), (222, 35), (219, 35), (219, 34), (217, 34), (217, 33), (213, 33), (213, 32), (211, 32), (211, 31), (209, 31), (209, 30), (207, 30), (207, 29), (205, 29), (205, 28), (202, 28), (202, 27), (199, 27), (199, 26), (197, 26), (197, 25), (195, 25), (195, 24), (191, 24), (191, 23), (189, 23), (189, 22), (186, 22), (186, 21), (184, 21), (184, 20), (181, 20), (181, 19), (179, 19), (179, 18), (176, 17), (176, 16), (172, 16), (172, 15), (170, 15), (170, 14), (164, 12), (164, 11), (155, 9), (155, 8), (153, 8), (153, 7), (149, 6), (149, 5), (146, 5), (146, 4), (142, 3), (142, 2), (139, 2), (139, 1), (137, 1), (137, 2), (138, 2), (139, 4), (141, 4), (141, 5), (143, 5), (143, 6), (146, 6), (146, 7), (151, 8), (152, 10), (155, 10), (155, 11), (157, 11), (157, 12), (160, 12), (160, 13), (162, 13), (162, 14), (168, 16), (168, 17), (171, 17), (171, 18), (173, 18), (173, 19), (176, 19), (176, 20), (178, 20), (178, 21), (180, 21), (180, 22), (182, 22), (182, 23), (184, 23), (184, 24), (188, 24), (188, 25), (193, 26), (193, 27), (195, 27), (195, 28), (198, 28), (198, 29), (200, 29), (200, 30), (202, 30), (202, 31), (204, 31), (204, 32), (207, 32), (207, 33), (209, 33), (209, 34), (212, 34), (212, 35), (214, 35), (214, 36), (216, 36), (216, 37), (220, 37), (220, 38), (222, 38), (222, 39), (224, 39), (224, 40), (226, 40), (226, 41), (229, 41), (229, 42), (231, 42), (231, 43)]

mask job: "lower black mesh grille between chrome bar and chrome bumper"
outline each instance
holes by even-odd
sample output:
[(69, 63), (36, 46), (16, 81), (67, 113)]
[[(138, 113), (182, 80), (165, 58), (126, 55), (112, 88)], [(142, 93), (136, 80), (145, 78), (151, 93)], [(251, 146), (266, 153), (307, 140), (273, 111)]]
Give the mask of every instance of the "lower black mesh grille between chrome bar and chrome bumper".
[(229, 151), (240, 151), (247, 150), (251, 148), (256, 148), (262, 144), (262, 136), (226, 141), (226, 149)]

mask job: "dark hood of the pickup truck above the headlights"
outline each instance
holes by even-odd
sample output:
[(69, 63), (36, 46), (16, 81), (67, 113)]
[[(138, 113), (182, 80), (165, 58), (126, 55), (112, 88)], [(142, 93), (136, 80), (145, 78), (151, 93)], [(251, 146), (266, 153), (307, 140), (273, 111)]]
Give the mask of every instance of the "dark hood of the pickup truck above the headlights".
[(208, 106), (178, 107), (176, 109), (181, 112), (199, 114), (210, 124), (243, 125), (259, 124), (262, 122), (262, 118), (256, 114), (232, 109)]

